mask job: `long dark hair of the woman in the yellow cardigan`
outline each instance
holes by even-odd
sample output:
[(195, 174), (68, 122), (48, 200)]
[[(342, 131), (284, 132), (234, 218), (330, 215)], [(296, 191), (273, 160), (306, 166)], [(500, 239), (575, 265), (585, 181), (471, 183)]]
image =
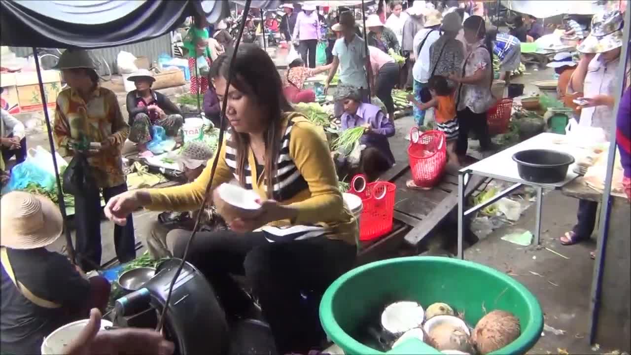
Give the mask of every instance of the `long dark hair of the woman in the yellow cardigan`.
[[(264, 181), (268, 198), (273, 198), (276, 182), (276, 166), (282, 136), (283, 112), (293, 111), (282, 92), (280, 75), (267, 52), (256, 44), (244, 43), (239, 46), (232, 73), (229, 72), (232, 53), (221, 54), (213, 62), (209, 76), (228, 79), (232, 75), (231, 85), (244, 95), (248, 95), (263, 110), (267, 129), (265, 140)], [(232, 132), (230, 147), (237, 151), (237, 176), (239, 183), (245, 186), (245, 165), (250, 149), (250, 137), (247, 133)]]

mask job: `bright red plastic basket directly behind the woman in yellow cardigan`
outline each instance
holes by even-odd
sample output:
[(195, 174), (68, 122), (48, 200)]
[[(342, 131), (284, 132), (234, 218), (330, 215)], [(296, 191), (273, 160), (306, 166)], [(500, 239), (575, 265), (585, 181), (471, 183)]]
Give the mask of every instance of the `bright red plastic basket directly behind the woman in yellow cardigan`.
[[(355, 188), (357, 183), (361, 186), (358, 189)], [(395, 184), (387, 181), (367, 183), (366, 177), (358, 174), (351, 179), (348, 193), (362, 199), (363, 210), (359, 223), (360, 241), (370, 241), (392, 231)]]

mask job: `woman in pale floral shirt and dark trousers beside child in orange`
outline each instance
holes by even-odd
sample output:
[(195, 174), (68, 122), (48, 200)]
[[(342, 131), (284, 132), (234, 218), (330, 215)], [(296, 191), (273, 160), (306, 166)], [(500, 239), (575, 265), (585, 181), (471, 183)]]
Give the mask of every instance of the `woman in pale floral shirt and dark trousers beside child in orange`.
[(487, 35), (483, 18), (471, 16), (464, 21), (464, 38), (468, 43), (468, 54), (463, 67), (450, 76), (459, 83), (456, 90), (457, 119), (459, 125), (456, 153), (464, 157), (469, 146), (469, 130), (476, 131), (480, 148), (491, 146), (488, 135), (487, 110), (495, 103), (491, 93), (493, 64), (490, 55), (492, 43)]

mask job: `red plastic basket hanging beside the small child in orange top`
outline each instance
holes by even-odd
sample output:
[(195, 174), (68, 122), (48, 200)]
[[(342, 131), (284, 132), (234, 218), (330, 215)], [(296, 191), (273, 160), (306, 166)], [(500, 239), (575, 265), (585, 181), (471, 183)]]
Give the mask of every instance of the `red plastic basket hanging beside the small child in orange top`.
[(408, 158), (416, 186), (431, 188), (440, 181), (447, 165), (446, 146), (447, 138), (441, 131), (419, 134), (418, 128), (411, 129)]

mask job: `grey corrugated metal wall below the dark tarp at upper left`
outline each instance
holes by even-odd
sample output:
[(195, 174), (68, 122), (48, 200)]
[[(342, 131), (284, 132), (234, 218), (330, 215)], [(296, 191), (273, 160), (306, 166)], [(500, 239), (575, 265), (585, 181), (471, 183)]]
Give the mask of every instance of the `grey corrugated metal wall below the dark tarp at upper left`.
[[(18, 57), (26, 57), (32, 54), (33, 49), (28, 47), (11, 47), (11, 51)], [(136, 57), (144, 56), (148, 57), (150, 63), (158, 61), (158, 56), (162, 53), (171, 55), (171, 35), (167, 33), (162, 37), (158, 37), (152, 40), (146, 40), (144, 42), (138, 42), (135, 44), (120, 45), (119, 47), (93, 49), (95, 53), (101, 54), (105, 57), (105, 60), (110, 64), (112, 72), (116, 72), (116, 56), (120, 51), (130, 52)]]

